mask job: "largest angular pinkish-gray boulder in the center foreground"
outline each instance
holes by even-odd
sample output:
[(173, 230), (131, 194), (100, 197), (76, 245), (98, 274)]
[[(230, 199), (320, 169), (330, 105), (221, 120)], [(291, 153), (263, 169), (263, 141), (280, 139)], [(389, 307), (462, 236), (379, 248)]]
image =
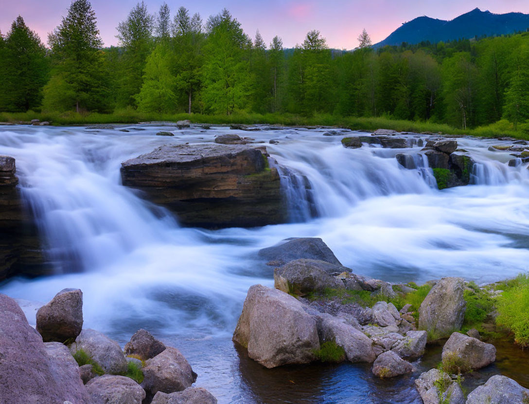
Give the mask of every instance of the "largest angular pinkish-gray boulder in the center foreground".
[(277, 289), (254, 285), (248, 290), (233, 341), (267, 368), (309, 363), (320, 349), (316, 321), (302, 303)]

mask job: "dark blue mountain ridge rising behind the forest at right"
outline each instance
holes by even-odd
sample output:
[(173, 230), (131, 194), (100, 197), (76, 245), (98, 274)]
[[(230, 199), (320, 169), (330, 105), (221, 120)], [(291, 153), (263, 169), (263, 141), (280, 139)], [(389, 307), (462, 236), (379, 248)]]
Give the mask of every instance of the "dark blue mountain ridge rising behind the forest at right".
[(473, 38), (475, 36), (494, 36), (512, 34), (529, 28), (529, 14), (507, 13), (492, 14), (475, 8), (450, 21), (437, 20), (430, 17), (417, 17), (403, 23), (384, 41), (376, 43), (373, 48), (385, 45), (400, 45), (403, 42), (415, 44), (422, 41), (432, 43), (440, 41)]

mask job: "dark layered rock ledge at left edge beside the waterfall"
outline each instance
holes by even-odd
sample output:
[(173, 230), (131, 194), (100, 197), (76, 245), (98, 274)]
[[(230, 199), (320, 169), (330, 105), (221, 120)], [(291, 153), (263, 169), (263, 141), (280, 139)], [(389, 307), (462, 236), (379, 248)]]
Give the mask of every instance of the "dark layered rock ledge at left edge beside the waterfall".
[(18, 183), (15, 159), (0, 156), (0, 281), (45, 273), (38, 231), (23, 209)]

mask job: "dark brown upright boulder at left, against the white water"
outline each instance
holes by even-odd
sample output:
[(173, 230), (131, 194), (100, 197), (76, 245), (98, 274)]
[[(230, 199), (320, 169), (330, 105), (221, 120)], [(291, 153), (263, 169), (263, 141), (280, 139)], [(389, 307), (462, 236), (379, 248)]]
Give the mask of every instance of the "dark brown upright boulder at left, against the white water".
[(44, 342), (76, 339), (83, 329), (83, 292), (62, 289), (37, 312), (37, 331)]

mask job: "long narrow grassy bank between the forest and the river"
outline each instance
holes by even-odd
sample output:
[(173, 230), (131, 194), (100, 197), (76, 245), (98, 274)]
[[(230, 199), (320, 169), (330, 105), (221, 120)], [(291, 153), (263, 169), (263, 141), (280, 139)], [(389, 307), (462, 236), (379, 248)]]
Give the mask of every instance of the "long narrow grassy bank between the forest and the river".
[(432, 132), (451, 135), (472, 135), (483, 137), (510, 136), (529, 139), (529, 131), (523, 128), (514, 130), (512, 124), (500, 120), (489, 126), (463, 130), (446, 124), (431, 122), (397, 120), (388, 117), (340, 117), (331, 114), (316, 114), (303, 117), (291, 114), (253, 114), (240, 112), (233, 115), (203, 115), (203, 114), (154, 114), (142, 113), (133, 109), (116, 110), (113, 114), (77, 114), (76, 112), (1, 112), (0, 122), (17, 123), (40, 119), (49, 121), (52, 125), (90, 125), (90, 124), (135, 124), (145, 121), (178, 121), (189, 119), (192, 123), (208, 124), (278, 124), (285, 126), (339, 126), (353, 130), (376, 130), (380, 128), (415, 133)]

